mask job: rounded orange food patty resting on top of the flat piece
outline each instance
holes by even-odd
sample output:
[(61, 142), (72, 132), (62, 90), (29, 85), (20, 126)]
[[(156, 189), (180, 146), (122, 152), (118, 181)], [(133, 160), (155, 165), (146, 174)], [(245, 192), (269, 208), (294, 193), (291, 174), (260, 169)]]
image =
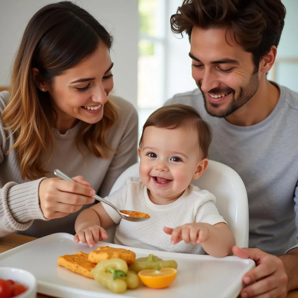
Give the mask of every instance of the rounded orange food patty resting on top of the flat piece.
[(97, 250), (89, 252), (88, 256), (88, 260), (94, 264), (112, 258), (119, 258), (125, 260), (127, 264), (132, 264), (136, 259), (136, 254), (128, 249), (100, 246)]

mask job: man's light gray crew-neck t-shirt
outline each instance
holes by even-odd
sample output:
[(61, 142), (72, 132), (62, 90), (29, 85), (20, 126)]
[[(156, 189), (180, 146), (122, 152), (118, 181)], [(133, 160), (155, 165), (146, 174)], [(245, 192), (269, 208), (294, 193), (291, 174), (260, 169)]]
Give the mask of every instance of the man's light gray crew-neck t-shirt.
[(298, 243), (298, 93), (278, 87), (280, 98), (272, 113), (247, 127), (210, 116), (199, 89), (165, 103), (190, 105), (211, 125), (209, 159), (233, 168), (246, 186), (249, 247), (275, 255)]

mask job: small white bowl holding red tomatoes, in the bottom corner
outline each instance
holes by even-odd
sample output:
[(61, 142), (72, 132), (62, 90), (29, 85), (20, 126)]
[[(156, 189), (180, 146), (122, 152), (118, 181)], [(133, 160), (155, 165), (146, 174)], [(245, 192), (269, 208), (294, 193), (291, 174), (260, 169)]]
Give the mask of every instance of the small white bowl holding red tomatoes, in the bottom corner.
[(27, 287), (27, 291), (16, 296), (16, 298), (36, 298), (36, 278), (29, 271), (19, 268), (0, 267), (0, 279), (14, 280), (16, 283)]

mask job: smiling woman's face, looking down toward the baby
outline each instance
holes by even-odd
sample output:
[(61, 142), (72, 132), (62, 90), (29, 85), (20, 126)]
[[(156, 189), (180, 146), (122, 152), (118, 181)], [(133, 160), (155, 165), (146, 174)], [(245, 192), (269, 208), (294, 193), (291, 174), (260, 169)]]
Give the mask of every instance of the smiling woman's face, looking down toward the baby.
[(113, 63), (108, 47), (100, 43), (88, 58), (55, 76), (46, 86), (58, 114), (56, 128), (65, 133), (76, 119), (96, 123), (103, 117), (104, 104), (113, 89)]

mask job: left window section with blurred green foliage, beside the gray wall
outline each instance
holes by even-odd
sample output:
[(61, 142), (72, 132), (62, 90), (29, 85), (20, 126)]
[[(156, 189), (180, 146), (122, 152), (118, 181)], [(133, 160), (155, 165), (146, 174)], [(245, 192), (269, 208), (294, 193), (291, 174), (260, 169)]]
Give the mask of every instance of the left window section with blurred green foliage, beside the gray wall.
[(139, 0), (139, 131), (164, 102), (165, 0)]

